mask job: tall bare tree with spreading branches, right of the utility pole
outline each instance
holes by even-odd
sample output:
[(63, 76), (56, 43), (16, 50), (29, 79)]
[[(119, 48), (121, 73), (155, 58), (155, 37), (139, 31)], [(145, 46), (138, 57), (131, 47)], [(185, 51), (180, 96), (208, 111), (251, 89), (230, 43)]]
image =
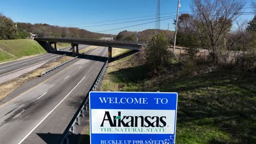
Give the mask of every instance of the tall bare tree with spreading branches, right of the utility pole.
[(223, 40), (244, 6), (243, 0), (193, 0), (191, 4), (201, 45), (209, 51), (216, 64)]

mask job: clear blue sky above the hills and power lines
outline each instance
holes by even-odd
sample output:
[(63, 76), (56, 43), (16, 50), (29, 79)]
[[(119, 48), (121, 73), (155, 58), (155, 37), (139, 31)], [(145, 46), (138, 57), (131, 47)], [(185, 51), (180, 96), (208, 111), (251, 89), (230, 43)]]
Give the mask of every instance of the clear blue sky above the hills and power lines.
[[(228, 0), (227, 0), (228, 1)], [(250, 1), (247, 0), (246, 7), (250, 6)], [(191, 0), (181, 0), (181, 11), (190, 11)], [(90, 23), (98, 21), (108, 21), (116, 19), (126, 19), (130, 17), (148, 16), (138, 19), (153, 19), (156, 12), (157, 0), (26, 0), (26, 1), (0, 1), (0, 11), (13, 19), (15, 22), (30, 22), (30, 23), (48, 23), (49, 25), (68, 26), (77, 23)], [(177, 0), (161, 0), (161, 14), (172, 13), (169, 16), (175, 15), (177, 10)], [(251, 9), (245, 9), (244, 11), (252, 11)], [(251, 20), (253, 15), (242, 16), (240, 19)], [(121, 20), (114, 22), (124, 22), (131, 20)], [(101, 26), (101, 27), (87, 27), (88, 31), (98, 32), (107, 29), (114, 29), (119, 27), (137, 25), (139, 23), (150, 22), (139, 21), (133, 23), (122, 23), (113, 26)], [(87, 25), (73, 25), (73, 27), (83, 27), (90, 25), (100, 25), (113, 22), (94, 23)], [(161, 21), (161, 28), (167, 29), (167, 25), (170, 23), (170, 29), (173, 30), (173, 20)], [(144, 29), (154, 28), (155, 23), (149, 23), (147, 25), (130, 27), (124, 29), (118, 29), (115, 31), (108, 31), (103, 33), (117, 34), (120, 31), (127, 29), (127, 31), (143, 31)]]

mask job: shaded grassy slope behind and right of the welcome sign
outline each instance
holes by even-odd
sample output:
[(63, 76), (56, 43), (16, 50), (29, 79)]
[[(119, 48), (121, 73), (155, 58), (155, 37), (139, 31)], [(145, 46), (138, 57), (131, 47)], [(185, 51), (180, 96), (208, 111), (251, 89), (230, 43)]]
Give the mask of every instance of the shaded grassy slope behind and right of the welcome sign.
[(135, 54), (109, 64), (101, 91), (178, 92), (176, 143), (256, 143), (255, 79), (232, 70), (174, 71), (150, 77)]

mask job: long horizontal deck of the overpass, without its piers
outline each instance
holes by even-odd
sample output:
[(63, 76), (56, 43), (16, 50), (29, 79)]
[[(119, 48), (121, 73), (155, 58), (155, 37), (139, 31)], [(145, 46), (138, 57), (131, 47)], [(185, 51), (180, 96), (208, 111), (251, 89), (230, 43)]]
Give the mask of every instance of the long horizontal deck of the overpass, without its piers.
[(95, 45), (95, 46), (110, 46), (118, 47), (121, 49), (140, 50), (147, 43), (136, 43), (127, 41), (110, 41), (110, 40), (89, 40), (78, 38), (35, 38), (37, 41), (49, 41), (53, 43), (70, 43), (70, 44), (83, 44), (83, 45)]

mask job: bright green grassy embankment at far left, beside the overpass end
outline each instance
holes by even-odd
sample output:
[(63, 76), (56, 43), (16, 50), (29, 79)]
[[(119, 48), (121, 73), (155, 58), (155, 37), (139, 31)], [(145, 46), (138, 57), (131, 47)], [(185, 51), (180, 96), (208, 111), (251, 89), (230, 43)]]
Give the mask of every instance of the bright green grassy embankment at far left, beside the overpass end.
[(30, 39), (0, 40), (0, 63), (47, 53)]

